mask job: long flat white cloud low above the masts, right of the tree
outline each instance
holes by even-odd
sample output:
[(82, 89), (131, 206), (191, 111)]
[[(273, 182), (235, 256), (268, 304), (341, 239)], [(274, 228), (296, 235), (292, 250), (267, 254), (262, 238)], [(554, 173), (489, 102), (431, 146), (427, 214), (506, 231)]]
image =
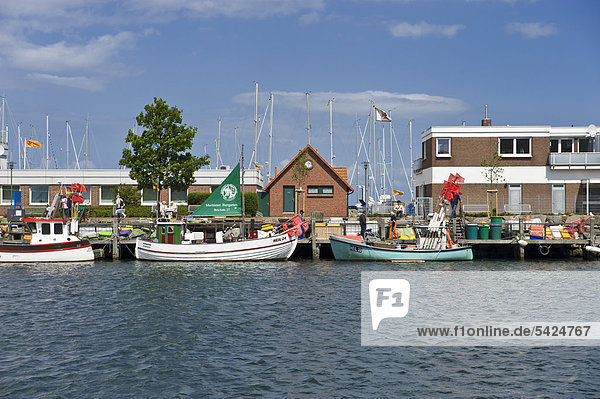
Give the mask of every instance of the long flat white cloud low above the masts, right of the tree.
[[(276, 109), (306, 112), (306, 93), (274, 91)], [(261, 93), (266, 97), (266, 93)], [(325, 104), (334, 98), (336, 114), (350, 116), (365, 115), (369, 112), (372, 100), (378, 108), (391, 110), (392, 118), (415, 118), (433, 114), (462, 112), (467, 105), (456, 98), (432, 96), (429, 94), (401, 94), (386, 91), (363, 91), (358, 93), (312, 92), (310, 93), (311, 112), (327, 112)], [(242, 93), (233, 98), (240, 105), (254, 104), (254, 93)]]

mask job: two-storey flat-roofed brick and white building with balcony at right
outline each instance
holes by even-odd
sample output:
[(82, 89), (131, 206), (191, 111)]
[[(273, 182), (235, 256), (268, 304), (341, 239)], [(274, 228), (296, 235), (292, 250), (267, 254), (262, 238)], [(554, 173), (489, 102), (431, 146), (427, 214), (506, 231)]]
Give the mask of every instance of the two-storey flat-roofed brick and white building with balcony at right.
[[(498, 213), (600, 211), (600, 129), (552, 126), (433, 126), (421, 135), (417, 197), (436, 198), (450, 173), (465, 178), (467, 212), (485, 208), (497, 190)], [(482, 160), (497, 152), (502, 179), (485, 178)]]

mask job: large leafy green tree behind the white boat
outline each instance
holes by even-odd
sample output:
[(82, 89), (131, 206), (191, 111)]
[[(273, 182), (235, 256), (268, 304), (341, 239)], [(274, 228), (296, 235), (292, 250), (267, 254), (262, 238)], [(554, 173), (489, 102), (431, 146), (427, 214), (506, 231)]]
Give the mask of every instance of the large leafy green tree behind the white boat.
[(137, 181), (138, 188), (185, 190), (194, 182), (194, 172), (208, 164), (208, 155), (196, 157), (189, 152), (198, 129), (184, 124), (181, 113), (154, 97), (154, 103), (145, 105), (144, 112), (136, 117), (143, 129), (141, 135), (129, 129), (125, 142), (131, 148), (123, 149), (119, 165), (131, 169), (129, 177)]

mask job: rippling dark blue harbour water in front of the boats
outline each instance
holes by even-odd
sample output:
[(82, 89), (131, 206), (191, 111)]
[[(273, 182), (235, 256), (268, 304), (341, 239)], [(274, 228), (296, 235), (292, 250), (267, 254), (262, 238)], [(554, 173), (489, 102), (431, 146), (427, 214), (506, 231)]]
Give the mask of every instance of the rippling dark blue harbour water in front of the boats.
[(361, 347), (362, 270), (600, 270), (139, 261), (0, 266), (0, 397), (598, 397), (592, 347)]

